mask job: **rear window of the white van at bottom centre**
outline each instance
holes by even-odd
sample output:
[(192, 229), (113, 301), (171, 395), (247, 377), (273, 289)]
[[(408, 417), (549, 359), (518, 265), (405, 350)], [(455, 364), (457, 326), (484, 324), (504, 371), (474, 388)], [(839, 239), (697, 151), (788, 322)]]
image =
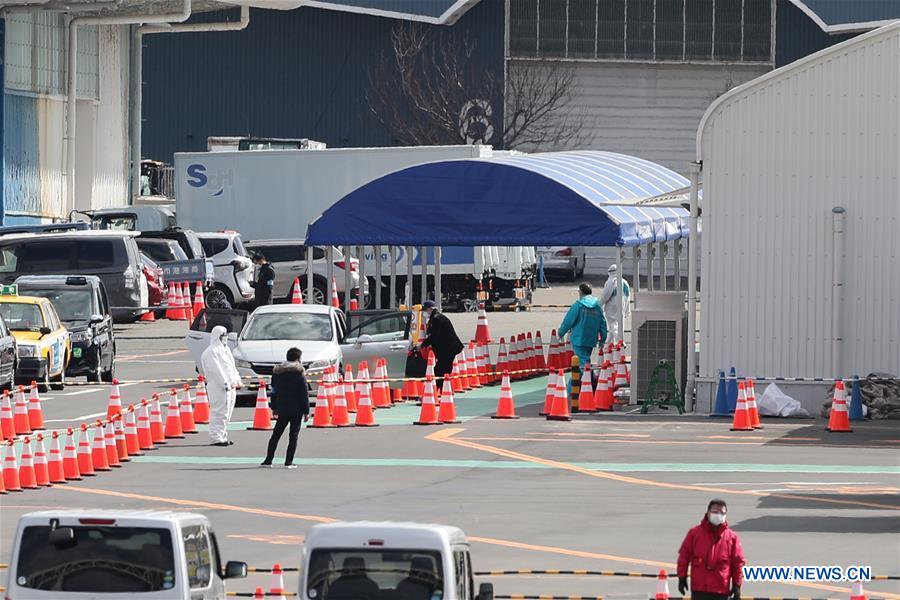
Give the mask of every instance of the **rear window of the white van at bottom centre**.
[(317, 600), (439, 598), (441, 555), (428, 550), (314, 550), (307, 590)]

